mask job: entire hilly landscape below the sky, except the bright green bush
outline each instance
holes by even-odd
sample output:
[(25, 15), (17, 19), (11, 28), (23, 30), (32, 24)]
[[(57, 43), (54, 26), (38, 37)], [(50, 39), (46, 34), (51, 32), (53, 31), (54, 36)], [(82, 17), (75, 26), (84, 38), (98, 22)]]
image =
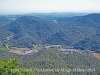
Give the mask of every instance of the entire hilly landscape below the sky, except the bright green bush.
[(13, 58), (36, 75), (100, 75), (100, 14), (1, 16), (0, 60)]

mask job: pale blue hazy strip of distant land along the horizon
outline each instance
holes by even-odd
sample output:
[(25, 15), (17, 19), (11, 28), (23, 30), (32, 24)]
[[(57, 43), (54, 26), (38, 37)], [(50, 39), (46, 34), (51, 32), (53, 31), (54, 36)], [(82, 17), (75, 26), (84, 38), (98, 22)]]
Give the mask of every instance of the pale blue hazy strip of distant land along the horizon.
[(68, 12), (66, 12), (66, 13), (58, 13), (58, 12), (54, 12), (54, 13), (29, 13), (27, 15), (53, 20), (53, 19), (56, 19), (56, 18), (84, 16), (84, 15), (87, 15), (87, 14), (88, 13), (68, 13)]

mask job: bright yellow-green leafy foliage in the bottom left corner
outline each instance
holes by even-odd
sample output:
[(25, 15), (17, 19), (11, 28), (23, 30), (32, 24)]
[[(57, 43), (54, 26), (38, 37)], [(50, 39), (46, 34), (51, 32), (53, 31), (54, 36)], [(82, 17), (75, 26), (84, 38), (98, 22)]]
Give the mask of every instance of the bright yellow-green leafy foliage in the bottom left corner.
[(12, 59), (10, 61), (0, 61), (0, 75), (34, 75), (34, 73), (27, 71), (25, 68), (18, 68), (18, 60)]

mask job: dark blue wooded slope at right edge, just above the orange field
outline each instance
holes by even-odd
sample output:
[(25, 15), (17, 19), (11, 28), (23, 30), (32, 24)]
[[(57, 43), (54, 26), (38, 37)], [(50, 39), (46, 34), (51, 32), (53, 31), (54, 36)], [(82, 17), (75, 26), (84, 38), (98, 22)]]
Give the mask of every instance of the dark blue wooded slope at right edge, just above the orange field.
[(85, 38), (75, 44), (75, 48), (78, 49), (91, 49), (93, 51), (100, 53), (100, 34)]

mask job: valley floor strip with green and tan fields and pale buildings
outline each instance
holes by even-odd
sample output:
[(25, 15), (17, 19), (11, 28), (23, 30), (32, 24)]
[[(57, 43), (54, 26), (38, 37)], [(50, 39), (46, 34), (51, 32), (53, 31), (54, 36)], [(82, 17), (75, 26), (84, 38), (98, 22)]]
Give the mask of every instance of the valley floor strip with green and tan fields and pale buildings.
[(37, 53), (43, 49), (49, 50), (49, 49), (56, 49), (60, 51), (61, 53), (68, 54), (68, 53), (78, 53), (78, 54), (88, 54), (91, 56), (94, 56), (98, 59), (100, 59), (100, 54), (95, 53), (94, 51), (91, 50), (80, 50), (80, 49), (74, 49), (74, 47), (69, 47), (69, 46), (62, 46), (62, 45), (34, 45), (34, 48), (17, 48), (17, 47), (0, 47), (1, 51), (7, 51), (10, 53), (18, 54), (18, 55), (31, 55), (34, 53)]

